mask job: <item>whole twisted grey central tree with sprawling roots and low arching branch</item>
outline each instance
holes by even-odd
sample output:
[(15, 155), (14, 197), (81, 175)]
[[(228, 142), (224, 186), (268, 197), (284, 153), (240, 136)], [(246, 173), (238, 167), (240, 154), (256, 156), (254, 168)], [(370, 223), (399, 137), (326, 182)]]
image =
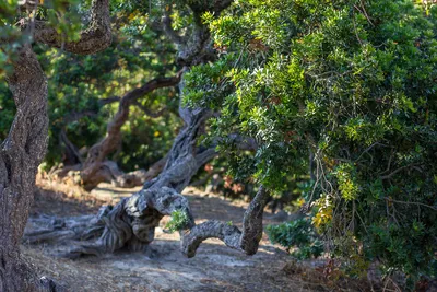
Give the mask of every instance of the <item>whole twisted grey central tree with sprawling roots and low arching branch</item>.
[[(179, 84), (181, 93), (185, 92), (185, 77), (192, 67), (215, 61), (217, 58), (209, 27), (203, 23), (202, 16), (205, 13), (220, 15), (231, 3), (229, 0), (179, 1), (176, 5), (168, 3), (165, 7), (163, 28), (177, 45), (177, 60), (184, 67)], [(190, 24), (184, 33), (174, 30), (172, 9), (189, 13)], [(185, 127), (176, 137), (165, 167), (156, 178), (146, 182), (142, 190), (122, 199), (115, 207), (103, 207), (94, 220), (78, 218), (61, 220), (62, 222), (43, 222), (43, 219), (38, 219), (35, 222), (43, 222), (46, 227), (26, 234), (26, 240), (35, 242), (56, 240), (59, 236), (62, 240), (98, 237), (95, 242), (72, 247), (67, 254), (71, 258), (111, 253), (122, 247), (145, 250), (154, 240), (155, 227), (164, 215), (174, 215), (181, 219), (175, 224), (180, 231), (181, 252), (188, 257), (194, 256), (199, 245), (211, 237), (220, 238), (227, 246), (248, 255), (255, 254), (262, 236), (262, 213), (268, 197), (268, 191), (262, 186), (245, 213), (243, 230), (220, 221), (197, 225), (187, 199), (180, 195), (199, 167), (216, 155), (217, 141), (206, 147), (199, 145), (197, 140), (205, 130), (205, 121), (218, 114), (208, 106), (190, 106), (181, 98), (179, 115)], [(240, 149), (257, 147), (253, 139), (241, 138), (238, 133), (229, 133), (226, 140), (232, 140)]]

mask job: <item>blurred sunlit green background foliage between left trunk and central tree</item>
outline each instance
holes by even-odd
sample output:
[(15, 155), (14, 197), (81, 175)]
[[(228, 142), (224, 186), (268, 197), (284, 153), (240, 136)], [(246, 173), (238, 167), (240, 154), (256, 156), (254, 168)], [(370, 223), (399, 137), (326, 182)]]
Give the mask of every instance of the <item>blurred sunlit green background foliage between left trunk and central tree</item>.
[[(111, 2), (114, 42), (101, 54), (78, 56), (47, 48), (44, 44), (35, 45), (43, 69), (52, 80), (48, 84), (51, 120), (49, 151), (42, 165), (46, 172), (57, 171), (55, 173), (59, 176), (67, 175), (69, 171), (81, 172), (83, 165), (88, 164), (87, 151), (107, 135), (107, 126), (117, 113), (121, 97), (155, 78), (176, 74), (176, 51), (160, 24), (164, 4), (150, 7), (121, 2)], [(73, 4), (73, 10), (62, 13), (68, 12), (66, 19), (78, 30), (75, 21), (88, 17), (90, 3)], [(50, 5), (47, 4), (48, 8)], [(47, 20), (50, 11), (40, 7), (36, 17)], [(70, 37), (78, 33), (74, 30), (67, 32)], [(14, 112), (9, 90), (5, 84), (1, 86), (4, 92), (1, 96), (1, 103), (4, 103), (0, 117), (4, 125), (1, 137), (4, 138)], [(133, 106), (121, 106), (130, 108), (119, 125), (123, 139), (114, 141), (114, 149), (108, 149), (102, 159), (102, 162), (109, 161), (110, 168), (104, 166), (98, 174), (83, 177), (83, 180), (94, 179), (93, 183), (82, 183), (91, 189), (102, 180), (115, 180), (123, 171), (149, 168), (164, 157), (181, 127), (177, 118), (177, 96), (175, 84), (172, 84), (167, 89), (151, 90), (146, 95), (137, 96)]]

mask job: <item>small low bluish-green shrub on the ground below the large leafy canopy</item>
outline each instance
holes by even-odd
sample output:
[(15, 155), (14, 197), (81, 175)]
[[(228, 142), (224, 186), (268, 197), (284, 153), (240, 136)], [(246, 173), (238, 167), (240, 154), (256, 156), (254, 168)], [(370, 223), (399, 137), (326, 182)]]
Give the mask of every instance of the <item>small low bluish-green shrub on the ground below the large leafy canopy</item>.
[(323, 253), (323, 243), (306, 219), (268, 225), (267, 233), (273, 244), (280, 244), (287, 250), (296, 247), (297, 250), (294, 250), (292, 255), (298, 259), (317, 258)]

